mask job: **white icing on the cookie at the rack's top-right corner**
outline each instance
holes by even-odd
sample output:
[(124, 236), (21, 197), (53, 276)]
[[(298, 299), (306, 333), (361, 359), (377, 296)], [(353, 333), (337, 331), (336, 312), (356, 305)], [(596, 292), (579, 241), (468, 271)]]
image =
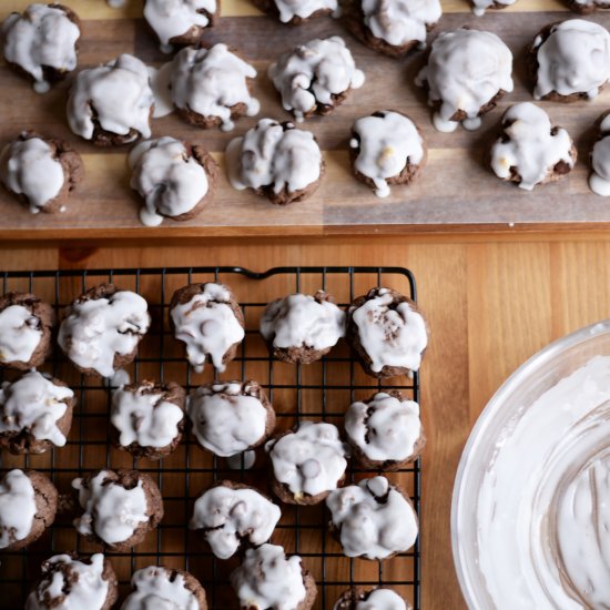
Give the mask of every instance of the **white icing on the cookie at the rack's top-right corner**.
[(426, 323), (409, 303), (389, 308), (392, 293), (377, 288), (372, 298), (349, 309), (358, 328), (360, 345), (370, 358), (370, 368), (379, 373), (384, 366), (401, 366), (418, 370), (421, 354), (428, 345)]

